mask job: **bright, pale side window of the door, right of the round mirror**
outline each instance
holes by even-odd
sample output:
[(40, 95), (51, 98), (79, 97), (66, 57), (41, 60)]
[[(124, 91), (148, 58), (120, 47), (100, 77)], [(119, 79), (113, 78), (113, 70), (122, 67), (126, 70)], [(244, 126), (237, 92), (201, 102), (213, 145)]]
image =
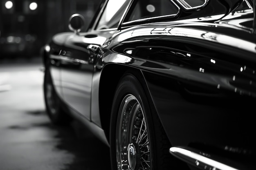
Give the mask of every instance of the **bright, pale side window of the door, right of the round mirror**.
[(96, 29), (117, 28), (129, 2), (130, 0), (109, 0)]

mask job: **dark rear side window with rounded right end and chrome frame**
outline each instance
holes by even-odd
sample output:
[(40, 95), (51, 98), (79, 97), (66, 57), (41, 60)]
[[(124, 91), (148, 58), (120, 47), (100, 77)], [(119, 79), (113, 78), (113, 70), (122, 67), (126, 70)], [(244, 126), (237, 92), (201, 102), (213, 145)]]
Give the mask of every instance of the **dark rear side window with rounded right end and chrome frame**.
[(138, 0), (132, 13), (124, 22), (155, 18), (160, 16), (177, 15), (179, 8), (171, 0)]

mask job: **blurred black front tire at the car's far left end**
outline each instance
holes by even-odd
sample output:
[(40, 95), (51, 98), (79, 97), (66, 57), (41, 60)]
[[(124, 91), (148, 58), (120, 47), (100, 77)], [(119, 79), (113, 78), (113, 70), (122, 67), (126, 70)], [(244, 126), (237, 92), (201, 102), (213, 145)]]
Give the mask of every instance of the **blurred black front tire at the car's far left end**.
[(65, 113), (61, 107), (61, 101), (56, 94), (54, 86), (52, 85), (52, 77), (49, 73), (49, 69), (45, 69), (44, 77), (44, 99), (46, 112), (54, 125), (67, 125), (71, 121), (71, 117)]

